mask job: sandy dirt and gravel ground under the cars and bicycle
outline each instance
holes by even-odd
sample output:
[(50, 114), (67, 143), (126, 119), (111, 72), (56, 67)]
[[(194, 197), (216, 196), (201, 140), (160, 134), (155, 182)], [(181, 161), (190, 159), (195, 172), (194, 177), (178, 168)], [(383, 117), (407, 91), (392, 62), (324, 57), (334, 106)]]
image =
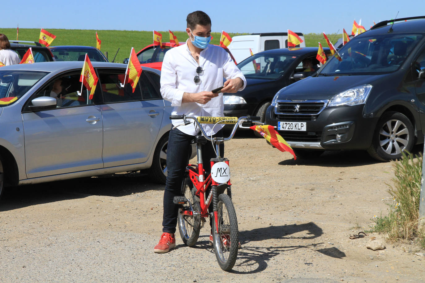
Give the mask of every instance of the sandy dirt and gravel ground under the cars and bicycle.
[[(420, 147), (419, 147), (420, 150)], [(153, 253), (163, 186), (142, 174), (9, 188), (0, 200), (0, 282), (425, 282), (409, 244), (372, 251), (391, 163), (364, 151), (292, 159), (242, 133), (226, 143), (242, 248), (224, 272), (201, 229), (195, 247)], [(422, 251), (424, 252), (424, 251)]]

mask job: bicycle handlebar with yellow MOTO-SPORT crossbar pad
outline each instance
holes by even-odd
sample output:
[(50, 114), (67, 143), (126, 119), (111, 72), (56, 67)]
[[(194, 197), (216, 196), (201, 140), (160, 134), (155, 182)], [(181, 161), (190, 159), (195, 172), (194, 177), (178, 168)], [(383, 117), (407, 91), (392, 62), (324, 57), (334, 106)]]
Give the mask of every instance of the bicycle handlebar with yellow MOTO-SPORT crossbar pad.
[(183, 123), (175, 126), (174, 128), (181, 126), (181, 125), (188, 125), (188, 124), (190, 124), (190, 122), (188, 122), (186, 119), (192, 119), (196, 124), (198, 124), (199, 129), (201, 129), (202, 135), (209, 141), (212, 141), (212, 139), (205, 132), (205, 130), (202, 128), (201, 123), (202, 124), (215, 124), (215, 123), (235, 124), (235, 126), (233, 127), (233, 130), (232, 130), (231, 134), (229, 135), (229, 137), (224, 138), (223, 141), (231, 140), (232, 137), (235, 135), (236, 129), (238, 127), (239, 128), (249, 128), (249, 127), (242, 126), (243, 122), (251, 121), (253, 123), (264, 125), (264, 123), (262, 123), (262, 122), (255, 121), (255, 120), (260, 120), (261, 119), (260, 117), (249, 116), (249, 115), (242, 116), (240, 118), (238, 118), (238, 117), (204, 117), (204, 116), (193, 117), (193, 116), (186, 116), (186, 115), (170, 115), (170, 119), (171, 120), (183, 119)]

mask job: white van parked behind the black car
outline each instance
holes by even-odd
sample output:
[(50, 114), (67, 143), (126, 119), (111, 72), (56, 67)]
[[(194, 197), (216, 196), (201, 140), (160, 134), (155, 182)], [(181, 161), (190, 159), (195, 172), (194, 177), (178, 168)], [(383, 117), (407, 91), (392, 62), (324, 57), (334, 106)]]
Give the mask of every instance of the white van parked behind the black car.
[[(303, 40), (297, 47), (306, 47), (304, 36), (300, 32), (296, 32), (298, 36)], [(275, 32), (275, 33), (261, 33), (261, 34), (249, 34), (249, 35), (238, 35), (232, 37), (229, 48), (236, 62), (242, 62), (244, 59), (251, 56), (249, 48), (252, 53), (258, 53), (264, 50), (287, 48), (288, 47), (288, 33), (287, 32)]]

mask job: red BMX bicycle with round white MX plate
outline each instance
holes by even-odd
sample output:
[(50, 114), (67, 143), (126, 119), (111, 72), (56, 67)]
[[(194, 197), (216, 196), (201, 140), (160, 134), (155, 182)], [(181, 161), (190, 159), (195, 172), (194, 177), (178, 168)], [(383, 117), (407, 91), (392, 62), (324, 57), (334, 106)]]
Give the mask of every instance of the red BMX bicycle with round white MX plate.
[[(194, 123), (201, 129), (201, 134), (194, 139), (198, 153), (198, 164), (187, 165), (185, 177), (181, 184), (182, 196), (174, 198), (174, 203), (180, 205), (178, 210), (178, 230), (181, 239), (187, 246), (196, 244), (199, 230), (204, 226), (205, 218), (210, 216), (212, 219), (212, 242), (215, 257), (221, 269), (229, 271), (235, 265), (238, 253), (238, 220), (232, 202), (229, 160), (225, 157), (220, 157), (219, 145), (232, 139), (238, 127), (249, 129), (249, 127), (242, 126), (242, 123), (263, 123), (255, 121), (260, 120), (260, 117), (249, 116), (241, 118), (195, 118), (186, 115), (171, 115), (170, 119), (183, 119), (183, 123), (178, 126), (191, 123), (187, 119), (194, 120)], [(235, 126), (227, 138), (209, 137), (202, 129), (201, 123), (226, 123), (235, 124)], [(205, 176), (201, 145), (207, 142), (211, 142), (215, 147), (216, 157), (210, 160), (211, 173)], [(209, 187), (211, 188), (210, 191), (208, 191)], [(212, 205), (212, 212), (209, 214), (208, 207), (210, 205)]]

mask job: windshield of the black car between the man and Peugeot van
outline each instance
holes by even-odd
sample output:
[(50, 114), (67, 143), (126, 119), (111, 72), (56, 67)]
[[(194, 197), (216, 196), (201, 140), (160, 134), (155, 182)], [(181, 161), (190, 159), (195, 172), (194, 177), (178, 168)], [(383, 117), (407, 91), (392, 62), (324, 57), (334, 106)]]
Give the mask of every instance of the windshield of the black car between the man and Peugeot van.
[(297, 56), (261, 53), (248, 57), (237, 66), (246, 78), (279, 78)]

